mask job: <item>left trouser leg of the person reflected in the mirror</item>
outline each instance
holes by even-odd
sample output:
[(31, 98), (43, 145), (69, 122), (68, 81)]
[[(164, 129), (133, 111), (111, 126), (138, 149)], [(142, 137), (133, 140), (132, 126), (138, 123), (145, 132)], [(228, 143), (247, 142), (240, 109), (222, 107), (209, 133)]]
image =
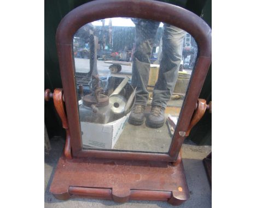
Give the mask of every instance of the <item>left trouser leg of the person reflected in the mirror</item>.
[[(137, 19), (138, 20), (138, 19)], [(136, 104), (147, 105), (150, 57), (159, 22), (139, 19), (135, 22), (136, 39), (132, 62), (132, 86), (136, 90)]]

